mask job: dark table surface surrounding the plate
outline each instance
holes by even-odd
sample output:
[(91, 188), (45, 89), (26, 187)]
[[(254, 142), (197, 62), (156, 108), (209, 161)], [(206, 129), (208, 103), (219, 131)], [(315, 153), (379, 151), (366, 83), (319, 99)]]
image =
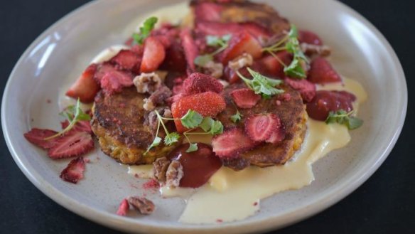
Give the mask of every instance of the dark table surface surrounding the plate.
[[(0, 90), (29, 44), (87, 0), (14, 0), (0, 4)], [(414, 23), (411, 0), (343, 0), (379, 28), (406, 74), (408, 114), (384, 164), (350, 196), (301, 223), (273, 233), (415, 233)], [(412, 3), (413, 4), (413, 3)], [(119, 233), (59, 206), (31, 184), (11, 158), (3, 137), (0, 157), (0, 233)]]

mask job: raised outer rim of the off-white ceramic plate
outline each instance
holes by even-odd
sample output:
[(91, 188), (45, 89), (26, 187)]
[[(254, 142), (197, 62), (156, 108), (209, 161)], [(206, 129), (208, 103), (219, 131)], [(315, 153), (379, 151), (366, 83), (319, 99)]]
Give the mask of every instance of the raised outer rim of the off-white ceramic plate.
[[(330, 0), (328, 0), (330, 1)], [(286, 225), (298, 222), (300, 220), (303, 220), (305, 218), (308, 218), (309, 216), (313, 216), (314, 214), (325, 210), (326, 208), (332, 206), (333, 204), (337, 203), (341, 199), (345, 198), (348, 194), (352, 193), (358, 186), (363, 184), (373, 173), (376, 171), (379, 166), (383, 163), (383, 161), (387, 158), (389, 153), (392, 151), (394, 144), (397, 142), (397, 139), (399, 137), (399, 134), (401, 132), (401, 129), (404, 125), (404, 120), (406, 116), (406, 108), (407, 108), (407, 87), (406, 87), (406, 79), (404, 75), (404, 71), (401, 68), (401, 64), (399, 63), (399, 59), (397, 58), (396, 53), (394, 53), (394, 50), (392, 46), (389, 45), (386, 38), (382, 36), (382, 33), (380, 33), (377, 28), (375, 28), (372, 23), (367, 21), (363, 16), (360, 16), (356, 11), (350, 9), (345, 4), (342, 4), (340, 2), (337, 2), (337, 4), (342, 5), (345, 11), (347, 11), (347, 14), (350, 14), (354, 18), (356, 18), (358, 21), (360, 21), (363, 25), (365, 25), (369, 30), (374, 33), (374, 35), (377, 37), (377, 39), (382, 43), (382, 46), (387, 49), (389, 52), (390, 58), (394, 61), (394, 64), (392, 67), (395, 70), (397, 82), (399, 83), (399, 90), (400, 92), (400, 112), (399, 112), (399, 119), (397, 120), (397, 125), (393, 131), (392, 134), (389, 134), (387, 136), (384, 136), (387, 138), (387, 142), (389, 144), (387, 147), (384, 147), (384, 150), (382, 151), (382, 154), (374, 158), (372, 161), (367, 161), (367, 166), (362, 167), (359, 171), (356, 171), (353, 176), (350, 176), (350, 178), (347, 179), (347, 181), (344, 181), (342, 184), (338, 184), (336, 186), (336, 189), (332, 189), (330, 191), (326, 191), (325, 193), (320, 194), (319, 198), (309, 201), (306, 205), (302, 206), (301, 208), (293, 208), (291, 211), (287, 211), (284, 216), (272, 216), (269, 218), (264, 218), (262, 220), (255, 220), (255, 221), (245, 221), (244, 223), (225, 223), (222, 225), (217, 225), (217, 227), (205, 227), (203, 225), (183, 225), (183, 228), (177, 228), (169, 225), (163, 225), (158, 226), (151, 224), (137, 224), (129, 220), (125, 220), (123, 218), (120, 218), (119, 216), (116, 216), (114, 214), (110, 214), (107, 212), (102, 211), (96, 211), (87, 204), (80, 203), (79, 201), (76, 201), (75, 199), (71, 198), (70, 196), (65, 195), (62, 191), (59, 191), (57, 188), (54, 188), (50, 184), (48, 184), (46, 181), (42, 179), (42, 177), (33, 169), (33, 167), (28, 164), (28, 162), (18, 156), (16, 154), (16, 147), (19, 147), (18, 144), (14, 144), (11, 142), (9, 138), (9, 132), (12, 130), (11, 127), (6, 126), (6, 122), (8, 119), (8, 116), (6, 114), (6, 110), (8, 108), (8, 97), (10, 92), (10, 86), (11, 83), (16, 80), (16, 76), (14, 75), (16, 73), (16, 68), (18, 68), (18, 65), (21, 63), (23, 58), (26, 58), (28, 56), (28, 53), (35, 48), (35, 46), (40, 43), (45, 35), (48, 35), (51, 31), (54, 31), (54, 28), (57, 28), (60, 25), (65, 24), (65, 22), (71, 18), (72, 16), (75, 16), (77, 13), (81, 11), (89, 11), (90, 9), (93, 9), (96, 4), (99, 4), (99, 1), (95, 0), (90, 3), (85, 4), (84, 6), (81, 6), (79, 9), (76, 9), (75, 11), (72, 11), (67, 16), (64, 16), (59, 21), (53, 24), (53, 26), (50, 26), (45, 32), (41, 34), (41, 36), (38, 36), (33, 43), (31, 43), (31, 46), (29, 46), (26, 51), (21, 55), (21, 58), (16, 63), (14, 70), (11, 72), (11, 75), (9, 77), (9, 80), (6, 84), (6, 88), (4, 90), (4, 96), (1, 103), (1, 126), (3, 128), (4, 132), (4, 138), (6, 139), (6, 144), (9, 147), (9, 150), (11, 151), (11, 154), (16, 161), (16, 164), (18, 167), (23, 171), (23, 174), (26, 175), (26, 177), (43, 193), (45, 193), (46, 196), (53, 199), (53, 201), (60, 204), (60, 206), (63, 206), (67, 208), (68, 210), (77, 213), (78, 215), (93, 220), (96, 223), (100, 223), (102, 225), (106, 225), (111, 228), (116, 228), (118, 230), (124, 230), (127, 232), (137, 232), (138, 230), (143, 233), (212, 233), (216, 230), (223, 230), (226, 229), (227, 233), (251, 233), (251, 232), (259, 232), (259, 231), (266, 231), (271, 230), (275, 228), (281, 228)], [(137, 229), (139, 228), (139, 229)]]

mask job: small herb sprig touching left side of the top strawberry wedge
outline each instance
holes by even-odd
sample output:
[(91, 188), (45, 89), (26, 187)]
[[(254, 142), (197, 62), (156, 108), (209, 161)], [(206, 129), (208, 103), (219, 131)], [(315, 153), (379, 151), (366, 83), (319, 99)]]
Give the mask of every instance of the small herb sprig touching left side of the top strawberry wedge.
[(211, 36), (208, 35), (206, 36), (206, 43), (208, 44), (208, 46), (212, 46), (212, 47), (217, 47), (219, 46), (219, 48), (217, 48), (217, 50), (215, 50), (213, 53), (208, 53), (205, 55), (199, 55), (198, 57), (195, 58), (195, 65), (198, 65), (200, 67), (204, 67), (207, 63), (209, 63), (210, 61), (213, 60), (213, 56), (217, 55), (218, 53), (222, 52), (223, 50), (225, 50), (229, 45), (228, 42), (230, 41), (230, 38), (232, 38), (231, 34), (227, 34), (225, 36)]

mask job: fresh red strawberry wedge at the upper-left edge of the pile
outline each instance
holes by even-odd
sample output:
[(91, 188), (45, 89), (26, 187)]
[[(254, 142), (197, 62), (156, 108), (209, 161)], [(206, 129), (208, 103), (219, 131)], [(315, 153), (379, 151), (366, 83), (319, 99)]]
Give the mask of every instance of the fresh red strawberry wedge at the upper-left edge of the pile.
[(93, 102), (95, 95), (97, 95), (97, 92), (99, 91), (99, 83), (93, 79), (96, 70), (96, 64), (88, 66), (69, 88), (66, 95), (75, 99), (79, 98), (80, 101), (84, 103)]

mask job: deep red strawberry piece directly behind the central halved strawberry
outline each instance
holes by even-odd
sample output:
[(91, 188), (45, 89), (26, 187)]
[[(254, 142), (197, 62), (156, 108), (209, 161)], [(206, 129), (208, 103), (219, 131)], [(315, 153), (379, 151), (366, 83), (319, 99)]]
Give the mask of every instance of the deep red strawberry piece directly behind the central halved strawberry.
[(183, 94), (194, 95), (200, 92), (222, 92), (223, 85), (210, 75), (192, 73), (183, 82)]

